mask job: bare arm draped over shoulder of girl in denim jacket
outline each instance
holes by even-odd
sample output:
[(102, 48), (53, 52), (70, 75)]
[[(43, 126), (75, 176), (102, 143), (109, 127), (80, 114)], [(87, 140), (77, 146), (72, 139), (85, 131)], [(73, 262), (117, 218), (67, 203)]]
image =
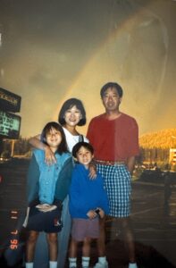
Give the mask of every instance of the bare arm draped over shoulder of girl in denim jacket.
[(29, 138), (29, 144), (32, 147), (45, 151), (45, 161), (47, 164), (56, 163), (54, 153), (51, 151), (50, 147), (40, 141), (40, 135)]

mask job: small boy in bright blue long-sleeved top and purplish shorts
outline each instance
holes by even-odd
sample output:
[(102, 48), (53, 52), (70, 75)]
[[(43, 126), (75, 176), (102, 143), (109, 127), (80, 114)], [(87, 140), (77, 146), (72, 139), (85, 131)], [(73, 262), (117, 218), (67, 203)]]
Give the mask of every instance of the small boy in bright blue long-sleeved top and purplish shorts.
[(88, 268), (91, 239), (99, 236), (99, 217), (109, 213), (108, 199), (99, 173), (90, 180), (88, 165), (94, 157), (94, 149), (87, 142), (79, 142), (72, 149), (77, 159), (71, 175), (70, 214), (72, 219), (70, 268), (77, 267), (77, 245), (83, 241), (82, 268)]

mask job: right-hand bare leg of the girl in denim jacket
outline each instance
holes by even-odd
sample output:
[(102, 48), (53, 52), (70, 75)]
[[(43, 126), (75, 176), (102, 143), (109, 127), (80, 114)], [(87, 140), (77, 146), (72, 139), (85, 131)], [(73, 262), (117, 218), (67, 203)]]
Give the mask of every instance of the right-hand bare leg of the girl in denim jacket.
[(58, 253), (57, 233), (47, 233), (46, 238), (49, 248), (49, 268), (56, 268)]

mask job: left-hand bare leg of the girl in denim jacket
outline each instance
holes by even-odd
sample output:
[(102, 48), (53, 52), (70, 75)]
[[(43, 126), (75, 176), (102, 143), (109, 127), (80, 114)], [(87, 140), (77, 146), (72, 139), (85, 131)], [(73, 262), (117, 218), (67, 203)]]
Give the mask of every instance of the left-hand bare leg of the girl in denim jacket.
[(26, 267), (32, 267), (34, 262), (34, 254), (36, 242), (38, 239), (38, 231), (30, 230), (29, 231), (29, 239), (26, 243)]

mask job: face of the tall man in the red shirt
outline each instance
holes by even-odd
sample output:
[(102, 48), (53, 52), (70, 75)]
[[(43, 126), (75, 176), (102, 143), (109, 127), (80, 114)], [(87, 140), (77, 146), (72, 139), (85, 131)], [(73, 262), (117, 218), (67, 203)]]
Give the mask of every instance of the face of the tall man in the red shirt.
[(115, 88), (107, 88), (104, 96), (102, 97), (103, 105), (105, 106), (106, 112), (113, 112), (119, 110), (122, 97), (119, 96)]

